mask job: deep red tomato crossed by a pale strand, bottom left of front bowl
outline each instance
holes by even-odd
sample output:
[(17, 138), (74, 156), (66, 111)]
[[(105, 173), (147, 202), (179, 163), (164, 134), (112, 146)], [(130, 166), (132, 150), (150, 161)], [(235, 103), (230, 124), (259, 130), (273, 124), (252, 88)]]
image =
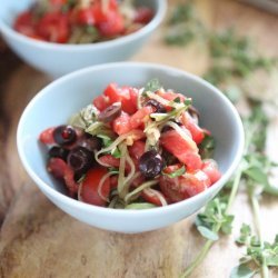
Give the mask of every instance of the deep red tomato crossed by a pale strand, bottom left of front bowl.
[[(87, 172), (82, 183), (80, 185), (81, 186), (80, 196), (82, 198), (82, 201), (100, 207), (106, 206), (106, 200), (102, 199), (98, 192), (100, 180), (106, 173), (107, 170), (101, 167), (90, 169)], [(110, 179), (107, 178), (102, 186), (101, 195), (103, 198), (108, 198), (109, 192), (110, 192)]]

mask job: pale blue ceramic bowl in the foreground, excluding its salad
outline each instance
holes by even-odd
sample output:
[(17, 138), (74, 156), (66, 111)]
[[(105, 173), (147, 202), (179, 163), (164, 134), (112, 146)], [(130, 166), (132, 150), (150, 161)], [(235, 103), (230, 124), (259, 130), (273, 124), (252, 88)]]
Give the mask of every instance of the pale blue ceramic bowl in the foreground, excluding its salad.
[[(109, 82), (142, 87), (158, 78), (165, 88), (192, 97), (201, 126), (216, 138), (215, 159), (221, 179), (205, 192), (185, 201), (148, 210), (116, 210), (87, 205), (63, 195), (63, 189), (46, 170), (46, 150), (38, 142), (48, 127), (67, 122), (69, 117), (100, 95)], [(41, 191), (59, 208), (80, 221), (107, 230), (141, 232), (179, 221), (199, 210), (230, 178), (242, 155), (244, 129), (237, 110), (214, 86), (193, 75), (149, 63), (111, 63), (70, 73), (41, 90), (27, 106), (18, 127), (21, 161)], [(32, 200), (28, 200), (32, 201)]]

